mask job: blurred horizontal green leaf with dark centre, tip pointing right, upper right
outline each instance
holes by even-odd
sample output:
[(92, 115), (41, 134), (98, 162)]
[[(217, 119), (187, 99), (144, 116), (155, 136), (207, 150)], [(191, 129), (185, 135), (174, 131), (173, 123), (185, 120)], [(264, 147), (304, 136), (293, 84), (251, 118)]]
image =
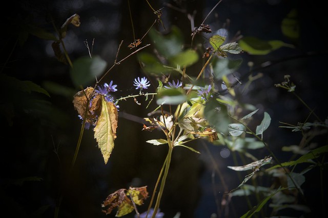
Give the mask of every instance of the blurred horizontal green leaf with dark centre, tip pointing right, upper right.
[(243, 51), (251, 55), (267, 55), (282, 46), (290, 46), (280, 40), (265, 41), (252, 36), (240, 39), (239, 45)]

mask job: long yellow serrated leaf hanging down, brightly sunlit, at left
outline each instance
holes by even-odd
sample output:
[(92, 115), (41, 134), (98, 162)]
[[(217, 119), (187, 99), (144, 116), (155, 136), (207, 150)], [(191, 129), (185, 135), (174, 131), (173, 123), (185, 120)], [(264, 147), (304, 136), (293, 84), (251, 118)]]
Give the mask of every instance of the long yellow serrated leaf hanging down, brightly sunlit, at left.
[(98, 142), (105, 164), (107, 164), (114, 149), (117, 122), (118, 112), (116, 106), (113, 102), (106, 102), (104, 96), (101, 95), (101, 113), (94, 128), (94, 138)]

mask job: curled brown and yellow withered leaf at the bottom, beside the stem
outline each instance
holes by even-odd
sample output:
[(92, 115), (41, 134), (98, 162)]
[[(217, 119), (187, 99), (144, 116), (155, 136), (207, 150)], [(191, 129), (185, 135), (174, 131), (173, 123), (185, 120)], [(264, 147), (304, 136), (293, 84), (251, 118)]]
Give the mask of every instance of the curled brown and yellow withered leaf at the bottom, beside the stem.
[(144, 200), (148, 198), (147, 186), (136, 187), (129, 189), (121, 188), (111, 193), (101, 205), (105, 210), (102, 210), (106, 214), (110, 214), (114, 208), (118, 208), (116, 217), (124, 216), (134, 210), (133, 202), (136, 205), (144, 204)]

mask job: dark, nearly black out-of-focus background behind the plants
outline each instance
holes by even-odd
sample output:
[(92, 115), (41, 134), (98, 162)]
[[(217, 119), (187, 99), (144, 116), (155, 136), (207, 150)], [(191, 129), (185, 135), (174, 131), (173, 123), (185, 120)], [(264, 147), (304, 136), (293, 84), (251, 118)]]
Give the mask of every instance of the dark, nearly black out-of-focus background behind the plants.
[[(191, 28), (188, 13), (195, 14), (195, 26), (198, 27), (217, 1), (150, 1), (155, 10), (162, 8), (162, 20), (167, 30), (172, 25), (178, 26), (190, 45)], [(173, 10), (166, 3), (180, 8)], [(136, 38), (141, 38), (152, 25), (152, 10), (146, 1), (130, 1)], [(291, 42), (285, 38), (280, 29), (282, 19), (292, 8), (299, 12), (301, 36), (299, 41)], [(315, 1), (222, 1), (208, 17), (213, 30), (223, 27), (227, 19), (229, 36), (238, 32), (243, 36), (255, 36), (263, 40), (282, 40), (294, 43), (296, 49), (283, 47), (264, 56), (252, 56), (247, 53), (239, 55), (243, 64), (235, 75), (247, 82), (250, 75), (248, 62), (259, 67), (254, 74), (261, 72), (263, 77), (253, 82), (243, 93), (239, 94), (241, 103), (253, 104), (260, 110), (254, 116), (254, 125), (258, 125), (264, 111), (272, 118), (270, 128), (264, 134), (273, 152), (282, 161), (287, 161), (290, 153), (281, 153), (282, 146), (298, 144), (301, 140), (299, 132), (281, 129), (279, 121), (297, 124), (304, 122), (309, 115), (306, 109), (291, 93), (274, 87), (283, 81), (283, 76), (291, 75), (296, 84), (297, 94), (306, 102), (319, 117), (326, 118), (327, 93), (327, 43), (326, 20), (323, 6)], [(3, 84), (2, 110), (12, 105), (14, 116), (12, 125), (8, 122), (8, 114), (1, 114), (2, 141), (1, 151), (1, 194), (3, 213), (6, 217), (35, 217), (36, 211), (44, 209), (40, 217), (53, 217), (54, 207), (60, 193), (64, 193), (59, 217), (106, 217), (101, 212), (101, 203), (106, 197), (119, 188), (131, 186), (148, 186), (150, 195), (157, 180), (166, 147), (154, 147), (146, 140), (161, 137), (156, 132), (141, 131), (142, 125), (126, 114), (146, 117), (149, 112), (147, 103), (140, 99), (141, 106), (132, 100), (120, 103), (120, 115), (115, 148), (109, 162), (105, 165), (103, 157), (93, 138), (93, 131), (86, 130), (77, 156), (73, 171), (69, 172), (70, 164), (78, 140), (81, 120), (72, 104), (73, 94), (79, 91), (74, 87), (69, 65), (57, 61), (51, 49), (52, 41), (39, 39), (29, 35), (24, 44), (17, 43), (19, 30), (24, 22), (31, 17), (40, 27), (53, 32), (51, 18), (57, 28), (73, 14), (80, 16), (80, 27), (69, 26), (65, 45), (72, 60), (88, 56), (89, 45), (94, 39), (93, 55), (99, 55), (107, 61), (108, 68), (113, 64), (118, 44), (122, 44), (118, 60), (131, 53), (127, 45), (133, 41), (131, 20), (127, 1), (17, 1), (2, 6), (1, 29), (1, 60), (2, 74), (28, 80), (47, 89), (48, 82), (61, 85), (57, 92), (48, 90), (51, 98), (39, 93), (15, 91), (10, 84)], [(165, 33), (160, 26), (157, 29)], [(196, 38), (201, 43), (202, 38)], [(145, 41), (150, 41), (146, 36)], [(147, 48), (152, 51), (152, 46)], [(311, 52), (311, 54), (310, 54)], [(295, 57), (295, 58), (294, 58)], [(261, 68), (261, 64), (272, 61), (270, 67)], [(191, 75), (197, 75), (201, 66), (195, 66)], [(136, 56), (117, 65), (104, 81), (114, 81), (118, 85), (116, 97), (125, 96), (137, 91), (132, 81), (137, 76), (145, 76), (140, 69)], [(154, 81), (153, 81), (154, 82)], [(90, 84), (92, 86), (93, 84)], [(152, 87), (152, 90), (156, 87)], [(238, 90), (243, 85), (236, 87)], [(34, 99), (43, 100), (34, 101)], [(33, 101), (32, 101), (33, 100)], [(155, 105), (153, 104), (155, 107)], [(10, 106), (11, 107), (11, 106)], [(153, 108), (154, 108), (153, 107)], [(124, 113), (124, 114), (123, 114)], [(310, 122), (314, 122), (310, 116)], [(319, 146), (326, 144), (326, 136), (319, 138)], [(222, 147), (207, 143), (195, 143), (194, 148), (201, 152), (196, 154), (183, 148), (176, 148), (172, 159), (169, 178), (165, 187), (161, 211), (165, 217), (173, 217), (180, 212), (180, 217), (210, 217), (217, 212), (211, 174), (216, 164), (224, 175), (224, 180), (232, 189), (238, 186), (235, 172), (227, 169), (234, 165), (232, 157), (222, 158), (219, 153)], [(208, 148), (214, 159), (210, 161)], [(261, 150), (253, 153), (259, 159), (268, 155)], [(19, 184), (21, 178), (37, 176), (41, 181), (26, 181)], [(217, 177), (217, 175), (216, 175)], [(321, 211), (319, 174), (306, 177), (302, 186), (313, 209), (313, 216), (323, 217)], [(216, 189), (222, 186), (216, 178)], [(149, 200), (139, 207), (143, 212)], [(49, 207), (47, 205), (50, 205)], [(239, 217), (248, 210), (247, 204), (236, 198), (232, 200), (229, 217)], [(43, 208), (44, 206), (44, 208)], [(293, 213), (293, 212), (291, 212)], [(115, 211), (108, 217), (114, 217)], [(290, 214), (291, 216), (293, 214)], [(301, 214), (296, 213), (299, 217)], [(126, 217), (133, 217), (133, 214)]]

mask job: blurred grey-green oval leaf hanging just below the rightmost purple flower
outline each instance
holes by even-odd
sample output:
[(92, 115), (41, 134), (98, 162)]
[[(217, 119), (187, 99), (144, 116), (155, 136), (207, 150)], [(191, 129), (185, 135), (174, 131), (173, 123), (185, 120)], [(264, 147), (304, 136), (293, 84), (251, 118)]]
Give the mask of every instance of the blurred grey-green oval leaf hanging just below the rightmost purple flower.
[(215, 127), (218, 133), (227, 134), (228, 125), (230, 123), (228, 109), (215, 99), (210, 99), (204, 108), (204, 117), (212, 126)]

